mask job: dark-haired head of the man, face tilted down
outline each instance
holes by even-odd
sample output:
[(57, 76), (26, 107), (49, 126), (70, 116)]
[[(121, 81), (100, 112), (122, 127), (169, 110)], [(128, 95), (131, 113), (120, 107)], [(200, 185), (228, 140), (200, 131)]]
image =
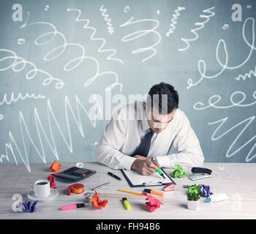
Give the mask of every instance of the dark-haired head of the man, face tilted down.
[(146, 103), (143, 103), (148, 124), (154, 132), (162, 132), (173, 120), (178, 108), (178, 93), (167, 83), (151, 87)]

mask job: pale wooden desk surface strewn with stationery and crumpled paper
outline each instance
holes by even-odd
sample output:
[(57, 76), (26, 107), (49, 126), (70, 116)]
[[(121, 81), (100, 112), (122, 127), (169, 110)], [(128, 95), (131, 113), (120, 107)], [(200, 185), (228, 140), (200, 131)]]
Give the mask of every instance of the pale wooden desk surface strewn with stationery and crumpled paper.
[[(23, 202), (29, 200), (27, 197), (31, 191), (31, 184), (39, 179), (47, 179), (50, 175), (49, 167), (51, 163), (31, 164), (31, 173), (22, 164), (0, 164), (0, 219), (256, 219), (256, 164), (246, 163), (206, 163), (203, 167), (213, 170), (211, 178), (199, 181), (190, 181), (188, 176), (192, 173), (190, 168), (184, 168), (187, 176), (176, 178), (175, 191), (166, 192), (164, 205), (154, 212), (146, 208), (146, 200), (129, 200), (132, 210), (125, 210), (121, 199), (107, 198), (108, 204), (105, 208), (79, 208), (70, 211), (61, 211), (61, 205), (73, 203), (83, 203), (83, 194), (67, 195), (67, 187), (70, 184), (56, 180), (59, 195), (53, 200), (37, 203), (38, 211), (35, 213), (12, 211), (12, 195), (20, 194)], [(65, 170), (75, 165), (75, 163), (61, 163), (61, 170)], [(78, 183), (85, 185), (85, 192), (99, 184), (110, 181), (110, 185), (97, 190), (102, 193), (123, 194), (117, 189), (132, 190), (142, 192), (143, 188), (131, 188), (120, 170), (111, 170), (105, 165), (97, 162), (84, 163), (84, 167), (97, 170), (97, 173)], [(107, 175), (111, 171), (122, 180), (118, 181)], [(167, 173), (173, 169), (165, 169)], [(225, 192), (229, 197), (220, 203), (205, 203), (204, 198), (200, 199), (197, 211), (187, 208), (187, 189), (184, 184), (207, 184), (211, 186), (214, 194)], [(162, 190), (163, 186), (147, 187), (148, 189)], [(106, 198), (102, 198), (106, 199)]]

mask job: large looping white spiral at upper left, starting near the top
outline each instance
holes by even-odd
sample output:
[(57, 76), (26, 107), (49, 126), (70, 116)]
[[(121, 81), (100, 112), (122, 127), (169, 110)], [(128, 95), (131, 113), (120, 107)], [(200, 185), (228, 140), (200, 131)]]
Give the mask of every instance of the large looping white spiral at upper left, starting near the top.
[[(90, 61), (93, 61), (94, 64), (96, 65), (96, 72), (95, 75), (91, 78), (89, 78), (89, 80), (87, 80), (84, 83), (84, 86), (89, 86), (91, 85), (91, 83), (94, 82), (94, 80), (96, 80), (97, 78), (101, 77), (102, 75), (113, 75), (115, 78), (115, 82), (112, 83), (110, 86), (108, 86), (107, 88), (105, 88), (106, 90), (110, 90), (111, 88), (115, 87), (115, 86), (120, 86), (119, 91), (121, 91), (122, 88), (122, 84), (118, 83), (118, 75), (116, 74), (116, 72), (113, 71), (106, 71), (106, 72), (99, 72), (99, 62), (97, 61), (97, 59), (95, 59), (94, 57), (91, 56), (85, 56), (85, 49), (83, 48), (83, 45), (80, 45), (78, 43), (68, 43), (66, 37), (64, 36), (64, 34), (62, 34), (61, 32), (59, 32), (55, 26), (53, 26), (52, 23), (48, 23), (48, 22), (35, 22), (35, 23), (29, 23), (26, 24), (24, 27), (29, 27), (29, 26), (34, 26), (34, 25), (43, 25), (43, 26), (50, 26), (50, 29), (52, 31), (48, 31), (45, 34), (40, 35), (39, 37), (37, 37), (37, 39), (35, 39), (34, 43), (36, 45), (46, 45), (48, 43), (50, 43), (57, 35), (61, 36), (61, 39), (63, 39), (63, 43), (61, 45), (59, 45), (58, 47), (54, 48), (53, 50), (50, 50), (50, 52), (48, 52), (43, 60), (44, 61), (50, 61), (53, 59), (56, 59), (57, 57), (61, 56), (62, 53), (64, 53), (64, 51), (66, 50), (67, 47), (75, 47), (75, 48), (80, 48), (81, 51), (81, 56), (75, 58), (75, 59), (71, 59), (70, 61), (68, 61), (65, 65), (64, 65), (64, 71), (71, 71), (72, 69), (77, 68), (82, 61), (88, 59)], [(50, 39), (48, 39), (48, 37), (50, 37)], [(43, 39), (45, 38), (45, 42), (40, 42), (40, 40), (43, 41)], [(55, 54), (56, 53), (56, 54)]]

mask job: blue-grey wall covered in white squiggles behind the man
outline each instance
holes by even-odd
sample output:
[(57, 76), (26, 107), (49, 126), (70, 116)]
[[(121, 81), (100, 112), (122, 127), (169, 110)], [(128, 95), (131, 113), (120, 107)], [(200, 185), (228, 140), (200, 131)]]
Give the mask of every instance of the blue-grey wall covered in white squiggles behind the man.
[(256, 162), (255, 12), (255, 1), (0, 1), (1, 162), (94, 161), (109, 103), (161, 81), (206, 162)]

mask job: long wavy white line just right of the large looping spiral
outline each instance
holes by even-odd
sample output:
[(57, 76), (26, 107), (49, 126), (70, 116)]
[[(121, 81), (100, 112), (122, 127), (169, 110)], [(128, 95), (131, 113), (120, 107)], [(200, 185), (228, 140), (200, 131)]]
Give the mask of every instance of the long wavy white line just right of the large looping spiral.
[(97, 30), (94, 27), (89, 26), (90, 20), (88, 19), (80, 19), (80, 15), (81, 15), (81, 10), (79, 9), (70, 9), (68, 8), (67, 11), (76, 11), (78, 12), (78, 16), (75, 18), (76, 22), (86, 22), (86, 24), (83, 26), (83, 29), (91, 29), (93, 32), (91, 34), (90, 39), (92, 41), (100, 41), (102, 42), (102, 45), (99, 47), (98, 52), (99, 53), (105, 53), (105, 52), (111, 52), (110, 56), (107, 57), (107, 60), (113, 60), (113, 61), (118, 61), (119, 63), (123, 64), (124, 62), (121, 59), (116, 59), (113, 58), (113, 56), (116, 54), (117, 50), (116, 49), (105, 49), (102, 50), (102, 48), (105, 47), (106, 44), (106, 39), (103, 38), (99, 38), (99, 37), (94, 37), (94, 35), (96, 34)]

